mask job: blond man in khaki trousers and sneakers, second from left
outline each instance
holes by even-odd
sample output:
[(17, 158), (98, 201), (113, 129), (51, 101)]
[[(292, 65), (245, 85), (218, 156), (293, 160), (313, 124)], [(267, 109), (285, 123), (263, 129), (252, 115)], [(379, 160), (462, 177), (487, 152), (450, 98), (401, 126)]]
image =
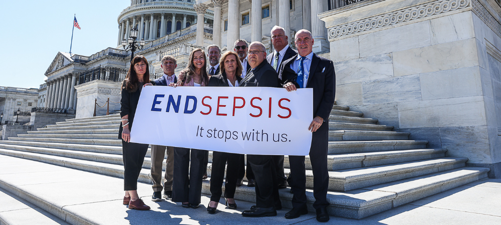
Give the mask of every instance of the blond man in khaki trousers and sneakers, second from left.
[[(169, 83), (177, 83), (177, 77), (174, 74), (174, 70), (177, 67), (176, 59), (171, 55), (165, 55), (162, 57), (160, 67), (163, 69), (163, 75), (157, 79), (151, 80), (151, 84), (157, 86), (168, 86)], [(164, 183), (162, 186), (162, 163), (165, 157), (165, 152), (167, 152), (166, 168)], [(151, 145), (151, 180), (153, 181), (153, 195), (151, 196), (152, 201), (161, 201), (163, 192), (163, 197), (165, 199), (172, 198), (172, 180), (174, 177), (174, 147), (163, 146), (163, 145)]]

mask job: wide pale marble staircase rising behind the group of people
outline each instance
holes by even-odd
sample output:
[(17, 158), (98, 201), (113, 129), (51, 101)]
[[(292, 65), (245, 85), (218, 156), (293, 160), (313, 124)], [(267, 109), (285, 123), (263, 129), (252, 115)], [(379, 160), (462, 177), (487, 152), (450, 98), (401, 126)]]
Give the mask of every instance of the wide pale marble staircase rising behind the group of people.
[[(467, 158), (446, 157), (446, 149), (426, 148), (425, 140), (409, 140), (408, 132), (362, 117), (348, 106), (334, 105), (329, 117), (329, 213), (363, 218), (392, 207), (487, 177), (488, 168), (465, 167)], [(0, 154), (123, 177), (118, 114), (67, 119), (28, 134), (0, 141)], [(212, 152), (207, 173), (210, 176)], [(285, 157), (289, 173), (289, 158)], [(139, 181), (150, 183), (150, 150)], [(313, 197), (309, 157), (307, 196)], [(209, 181), (203, 193), (210, 194)], [(284, 207), (291, 207), (289, 188), (281, 189)], [(253, 187), (237, 187), (235, 198), (254, 201)]]

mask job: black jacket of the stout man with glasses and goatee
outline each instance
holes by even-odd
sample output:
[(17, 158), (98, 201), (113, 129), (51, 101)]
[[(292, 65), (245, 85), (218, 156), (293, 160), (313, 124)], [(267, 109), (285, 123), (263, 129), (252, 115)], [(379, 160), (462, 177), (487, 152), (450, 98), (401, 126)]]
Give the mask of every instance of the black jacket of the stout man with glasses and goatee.
[(263, 60), (256, 68), (250, 70), (240, 83), (240, 86), (277, 87), (278, 85), (277, 71), (266, 60)]

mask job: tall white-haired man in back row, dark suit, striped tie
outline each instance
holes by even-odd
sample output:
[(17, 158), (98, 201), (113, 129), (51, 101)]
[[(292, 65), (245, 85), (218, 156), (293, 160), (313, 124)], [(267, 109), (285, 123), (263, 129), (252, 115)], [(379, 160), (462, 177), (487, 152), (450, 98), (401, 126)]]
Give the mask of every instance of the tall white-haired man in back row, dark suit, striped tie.
[[(273, 48), (272, 54), (266, 56), (266, 60), (270, 65), (279, 72), (280, 65), (283, 61), (292, 58), (298, 52), (289, 47), (289, 37), (285, 34), (285, 29), (280, 26), (274, 26), (271, 31)], [(279, 188), (287, 187), (287, 177), (284, 173), (284, 155), (274, 155), (275, 169), (277, 170), (277, 179)]]

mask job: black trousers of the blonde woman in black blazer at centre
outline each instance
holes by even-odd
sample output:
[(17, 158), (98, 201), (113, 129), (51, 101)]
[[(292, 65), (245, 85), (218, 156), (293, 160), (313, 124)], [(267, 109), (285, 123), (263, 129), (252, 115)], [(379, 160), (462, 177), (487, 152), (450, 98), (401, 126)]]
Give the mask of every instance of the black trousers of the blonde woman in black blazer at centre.
[(233, 198), (235, 196), (236, 179), (238, 177), (238, 165), (240, 164), (240, 154), (220, 151), (212, 152), (212, 169), (210, 170), (210, 196), (211, 201), (218, 202), (222, 194), (222, 181), (224, 179), (224, 168), (226, 167), (226, 183), (224, 184), (224, 197)]

